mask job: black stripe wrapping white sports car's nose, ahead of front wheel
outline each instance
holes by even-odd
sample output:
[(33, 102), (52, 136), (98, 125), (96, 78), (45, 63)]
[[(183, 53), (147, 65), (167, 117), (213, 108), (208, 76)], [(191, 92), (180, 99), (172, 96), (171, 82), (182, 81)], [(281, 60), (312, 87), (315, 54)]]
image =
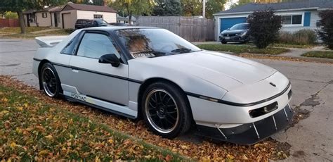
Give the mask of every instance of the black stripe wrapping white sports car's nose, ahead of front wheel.
[[(218, 103), (221, 103), (221, 104), (226, 104), (226, 105), (230, 105), (230, 106), (254, 106), (254, 105), (257, 105), (257, 104), (262, 104), (266, 101), (270, 101), (272, 99), (275, 99), (277, 98), (278, 96), (281, 96), (282, 94), (284, 94), (290, 87), (291, 83), (289, 82), (289, 84), (287, 85), (287, 87), (285, 89), (283, 89), (282, 92), (278, 93), (278, 94), (275, 94), (274, 96), (270, 96), (268, 97), (267, 99), (263, 99), (263, 100), (260, 100), (260, 101), (256, 101), (256, 102), (252, 102), (252, 103), (248, 103), (248, 104), (241, 104), (241, 103), (235, 103), (235, 102), (230, 102), (230, 101), (224, 101), (222, 99), (214, 99), (214, 98), (211, 98), (209, 96), (203, 96), (203, 95), (200, 95), (200, 94), (193, 94), (191, 92), (185, 92), (185, 94), (188, 94), (188, 96), (193, 96), (193, 97), (196, 97), (196, 98), (200, 98), (200, 99), (214, 99), (216, 100)], [(209, 100), (210, 101), (210, 100)]]

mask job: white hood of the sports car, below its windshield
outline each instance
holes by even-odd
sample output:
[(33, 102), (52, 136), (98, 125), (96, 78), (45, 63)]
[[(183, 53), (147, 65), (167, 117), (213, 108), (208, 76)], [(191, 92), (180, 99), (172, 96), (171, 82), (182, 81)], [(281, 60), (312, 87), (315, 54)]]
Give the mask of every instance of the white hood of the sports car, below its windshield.
[(154, 66), (181, 70), (186, 75), (200, 77), (228, 91), (242, 84), (259, 82), (276, 71), (261, 63), (214, 51), (139, 59)]

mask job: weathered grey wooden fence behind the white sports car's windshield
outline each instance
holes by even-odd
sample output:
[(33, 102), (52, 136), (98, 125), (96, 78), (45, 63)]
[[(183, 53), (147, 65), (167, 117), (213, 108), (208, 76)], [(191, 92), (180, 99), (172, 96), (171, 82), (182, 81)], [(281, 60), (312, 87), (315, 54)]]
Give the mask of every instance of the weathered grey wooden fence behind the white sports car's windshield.
[(190, 42), (214, 40), (214, 20), (183, 16), (140, 16), (138, 26), (161, 27)]

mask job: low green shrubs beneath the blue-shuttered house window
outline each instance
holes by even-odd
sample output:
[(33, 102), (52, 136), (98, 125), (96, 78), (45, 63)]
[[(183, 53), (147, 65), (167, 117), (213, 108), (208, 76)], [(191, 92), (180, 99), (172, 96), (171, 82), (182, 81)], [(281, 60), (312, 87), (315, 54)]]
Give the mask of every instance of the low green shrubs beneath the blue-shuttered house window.
[(278, 43), (307, 45), (315, 44), (317, 36), (313, 30), (299, 30), (297, 32), (280, 32)]

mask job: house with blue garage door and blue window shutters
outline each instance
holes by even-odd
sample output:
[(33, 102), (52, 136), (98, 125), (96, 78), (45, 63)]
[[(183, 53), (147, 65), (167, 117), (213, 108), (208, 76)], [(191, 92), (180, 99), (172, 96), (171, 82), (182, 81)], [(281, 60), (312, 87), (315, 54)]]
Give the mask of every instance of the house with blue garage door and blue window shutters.
[(319, 25), (318, 12), (333, 8), (332, 0), (306, 0), (292, 1), (273, 4), (245, 4), (226, 11), (214, 14), (215, 18), (215, 39), (223, 30), (226, 30), (237, 23), (245, 23), (247, 16), (254, 11), (272, 8), (275, 14), (282, 16), (281, 31), (296, 32), (302, 29), (315, 30)]

